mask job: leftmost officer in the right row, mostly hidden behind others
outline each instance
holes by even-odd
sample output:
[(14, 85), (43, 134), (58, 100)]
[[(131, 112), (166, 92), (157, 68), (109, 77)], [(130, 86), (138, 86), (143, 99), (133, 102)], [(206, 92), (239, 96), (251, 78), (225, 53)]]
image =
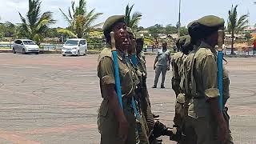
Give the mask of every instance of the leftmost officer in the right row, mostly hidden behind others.
[[(173, 78), (172, 84), (173, 89), (176, 90), (177, 94), (175, 102), (175, 116), (174, 116), (174, 128), (182, 130), (182, 133), (186, 135), (186, 138), (182, 138), (178, 141), (179, 144), (195, 144), (194, 133), (191, 129), (186, 127), (187, 120), (187, 104), (188, 100), (186, 99), (185, 90), (180, 86), (182, 75), (183, 75), (183, 65), (186, 60), (186, 55), (193, 50), (193, 46), (190, 42), (190, 36), (186, 35), (178, 39), (177, 47), (179, 52), (174, 54), (172, 57), (172, 68), (173, 68)], [(183, 81), (182, 81), (183, 82)]]

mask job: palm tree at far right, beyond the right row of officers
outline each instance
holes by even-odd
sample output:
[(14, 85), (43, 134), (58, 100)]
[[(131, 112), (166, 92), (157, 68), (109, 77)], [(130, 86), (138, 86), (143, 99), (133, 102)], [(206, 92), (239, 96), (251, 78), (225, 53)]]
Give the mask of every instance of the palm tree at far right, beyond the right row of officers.
[(247, 27), (248, 23), (248, 14), (242, 15), (238, 19), (238, 5), (231, 7), (229, 10), (228, 26), (227, 30), (231, 34), (231, 54), (234, 54), (234, 34), (238, 34), (240, 31), (244, 30)]

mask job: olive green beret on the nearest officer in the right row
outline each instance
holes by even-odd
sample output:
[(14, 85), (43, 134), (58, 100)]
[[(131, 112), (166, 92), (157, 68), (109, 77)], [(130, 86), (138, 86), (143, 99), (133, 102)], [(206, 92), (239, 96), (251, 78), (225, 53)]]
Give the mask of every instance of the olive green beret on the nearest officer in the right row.
[(197, 22), (202, 26), (208, 26), (213, 28), (224, 28), (225, 23), (223, 18), (218, 18), (214, 15), (207, 15), (205, 17), (199, 18)]

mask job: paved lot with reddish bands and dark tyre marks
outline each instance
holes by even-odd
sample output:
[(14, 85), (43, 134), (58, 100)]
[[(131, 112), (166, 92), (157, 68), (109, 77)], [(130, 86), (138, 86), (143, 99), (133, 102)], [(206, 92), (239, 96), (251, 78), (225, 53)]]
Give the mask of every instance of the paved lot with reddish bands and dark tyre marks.
[[(0, 54), (0, 143), (99, 143), (97, 58)], [(150, 87), (154, 57), (146, 59)], [(256, 143), (256, 58), (228, 60), (234, 143)], [(167, 126), (174, 116), (170, 78), (169, 72), (166, 89), (149, 89), (153, 111)]]

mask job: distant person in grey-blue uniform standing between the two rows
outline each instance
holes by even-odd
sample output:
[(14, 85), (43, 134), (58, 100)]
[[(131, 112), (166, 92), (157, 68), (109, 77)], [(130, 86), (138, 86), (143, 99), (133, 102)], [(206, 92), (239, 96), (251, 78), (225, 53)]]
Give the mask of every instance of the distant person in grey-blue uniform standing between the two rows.
[(158, 50), (158, 54), (154, 60), (154, 86), (152, 88), (157, 88), (158, 78), (162, 74), (161, 88), (165, 88), (166, 72), (170, 70), (170, 50), (167, 49), (167, 42), (162, 42), (162, 50)]

